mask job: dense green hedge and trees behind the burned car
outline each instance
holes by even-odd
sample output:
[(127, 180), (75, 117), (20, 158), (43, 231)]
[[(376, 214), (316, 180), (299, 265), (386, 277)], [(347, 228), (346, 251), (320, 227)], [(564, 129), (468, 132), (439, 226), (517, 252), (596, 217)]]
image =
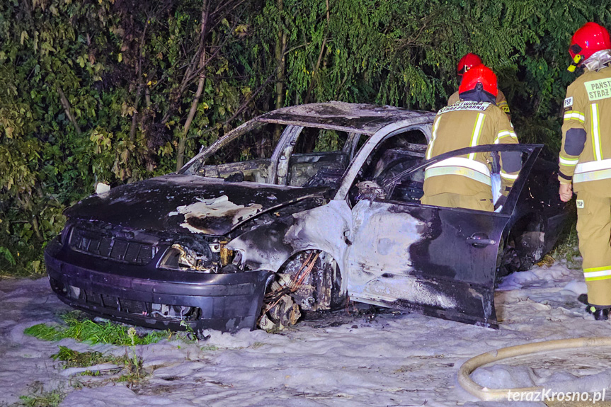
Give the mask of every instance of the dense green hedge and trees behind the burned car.
[(282, 105), (438, 109), (466, 52), (497, 72), (520, 139), (556, 151), (566, 49), (586, 21), (610, 23), (610, 2), (1, 2), (0, 273), (44, 273), (62, 210), (96, 181), (175, 171)]

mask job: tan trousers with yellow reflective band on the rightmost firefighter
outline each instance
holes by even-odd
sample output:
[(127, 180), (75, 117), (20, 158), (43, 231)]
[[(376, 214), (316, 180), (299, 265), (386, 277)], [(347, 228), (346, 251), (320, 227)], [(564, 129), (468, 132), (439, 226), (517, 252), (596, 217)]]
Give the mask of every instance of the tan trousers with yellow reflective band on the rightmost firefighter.
[(577, 193), (577, 236), (588, 302), (611, 306), (611, 197)]

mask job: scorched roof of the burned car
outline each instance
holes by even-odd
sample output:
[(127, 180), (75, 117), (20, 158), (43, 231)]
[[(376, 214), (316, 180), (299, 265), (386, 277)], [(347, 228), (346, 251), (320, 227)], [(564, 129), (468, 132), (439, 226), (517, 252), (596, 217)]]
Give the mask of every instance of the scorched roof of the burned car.
[(394, 122), (404, 120), (422, 122), (423, 117), (428, 118), (432, 122), (435, 113), (396, 108), (394, 106), (333, 101), (288, 106), (264, 113), (257, 117), (256, 120), (282, 125), (321, 127), (330, 130), (360, 132), (371, 135), (382, 127)]

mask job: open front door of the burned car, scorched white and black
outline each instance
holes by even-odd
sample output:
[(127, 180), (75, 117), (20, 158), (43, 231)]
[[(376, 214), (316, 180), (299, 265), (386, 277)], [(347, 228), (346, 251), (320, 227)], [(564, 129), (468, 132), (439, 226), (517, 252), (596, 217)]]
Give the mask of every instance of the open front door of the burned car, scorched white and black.
[[(348, 251), (348, 294), (358, 302), (418, 311), (497, 328), (494, 284), (499, 246), (542, 146), (469, 147), (394, 172), (375, 196), (357, 199)], [(426, 167), (470, 152), (490, 153), (493, 189), (498, 156), (522, 155), (522, 169), (498, 212), (422, 205)], [(494, 171), (494, 168), (497, 168)], [(394, 175), (396, 174), (396, 175)], [(493, 194), (497, 195), (497, 194)], [(502, 247), (502, 246), (501, 246)]]

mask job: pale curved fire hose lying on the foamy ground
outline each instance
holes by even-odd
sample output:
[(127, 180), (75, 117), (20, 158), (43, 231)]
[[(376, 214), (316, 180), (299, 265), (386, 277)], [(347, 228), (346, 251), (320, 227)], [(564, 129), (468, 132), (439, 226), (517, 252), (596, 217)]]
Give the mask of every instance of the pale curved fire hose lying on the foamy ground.
[(611, 346), (611, 338), (573, 338), (546, 340), (544, 342), (525, 343), (524, 345), (510, 346), (491, 352), (482, 353), (464, 362), (458, 370), (458, 383), (463, 389), (473, 396), (484, 401), (503, 401), (507, 400), (507, 394), (525, 394), (533, 391), (542, 391), (542, 386), (520, 387), (518, 389), (489, 389), (476, 384), (469, 376), (478, 367), (508, 359), (509, 357), (531, 355), (537, 352), (547, 352), (550, 350), (561, 350), (571, 348), (590, 348), (600, 346)]

